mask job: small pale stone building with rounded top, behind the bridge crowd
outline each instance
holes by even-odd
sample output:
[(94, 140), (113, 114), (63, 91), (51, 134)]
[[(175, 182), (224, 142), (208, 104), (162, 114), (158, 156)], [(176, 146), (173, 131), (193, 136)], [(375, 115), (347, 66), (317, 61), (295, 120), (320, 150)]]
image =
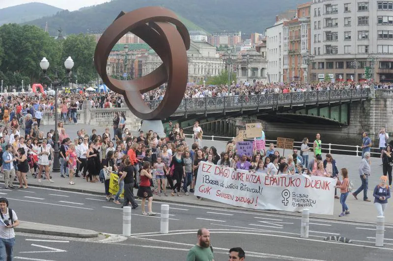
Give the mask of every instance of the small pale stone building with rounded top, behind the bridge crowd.
[(237, 83), (263, 82), (267, 83), (268, 78), (266, 74), (267, 61), (260, 52), (255, 49), (241, 51), (237, 55), (234, 62), (236, 68)]

